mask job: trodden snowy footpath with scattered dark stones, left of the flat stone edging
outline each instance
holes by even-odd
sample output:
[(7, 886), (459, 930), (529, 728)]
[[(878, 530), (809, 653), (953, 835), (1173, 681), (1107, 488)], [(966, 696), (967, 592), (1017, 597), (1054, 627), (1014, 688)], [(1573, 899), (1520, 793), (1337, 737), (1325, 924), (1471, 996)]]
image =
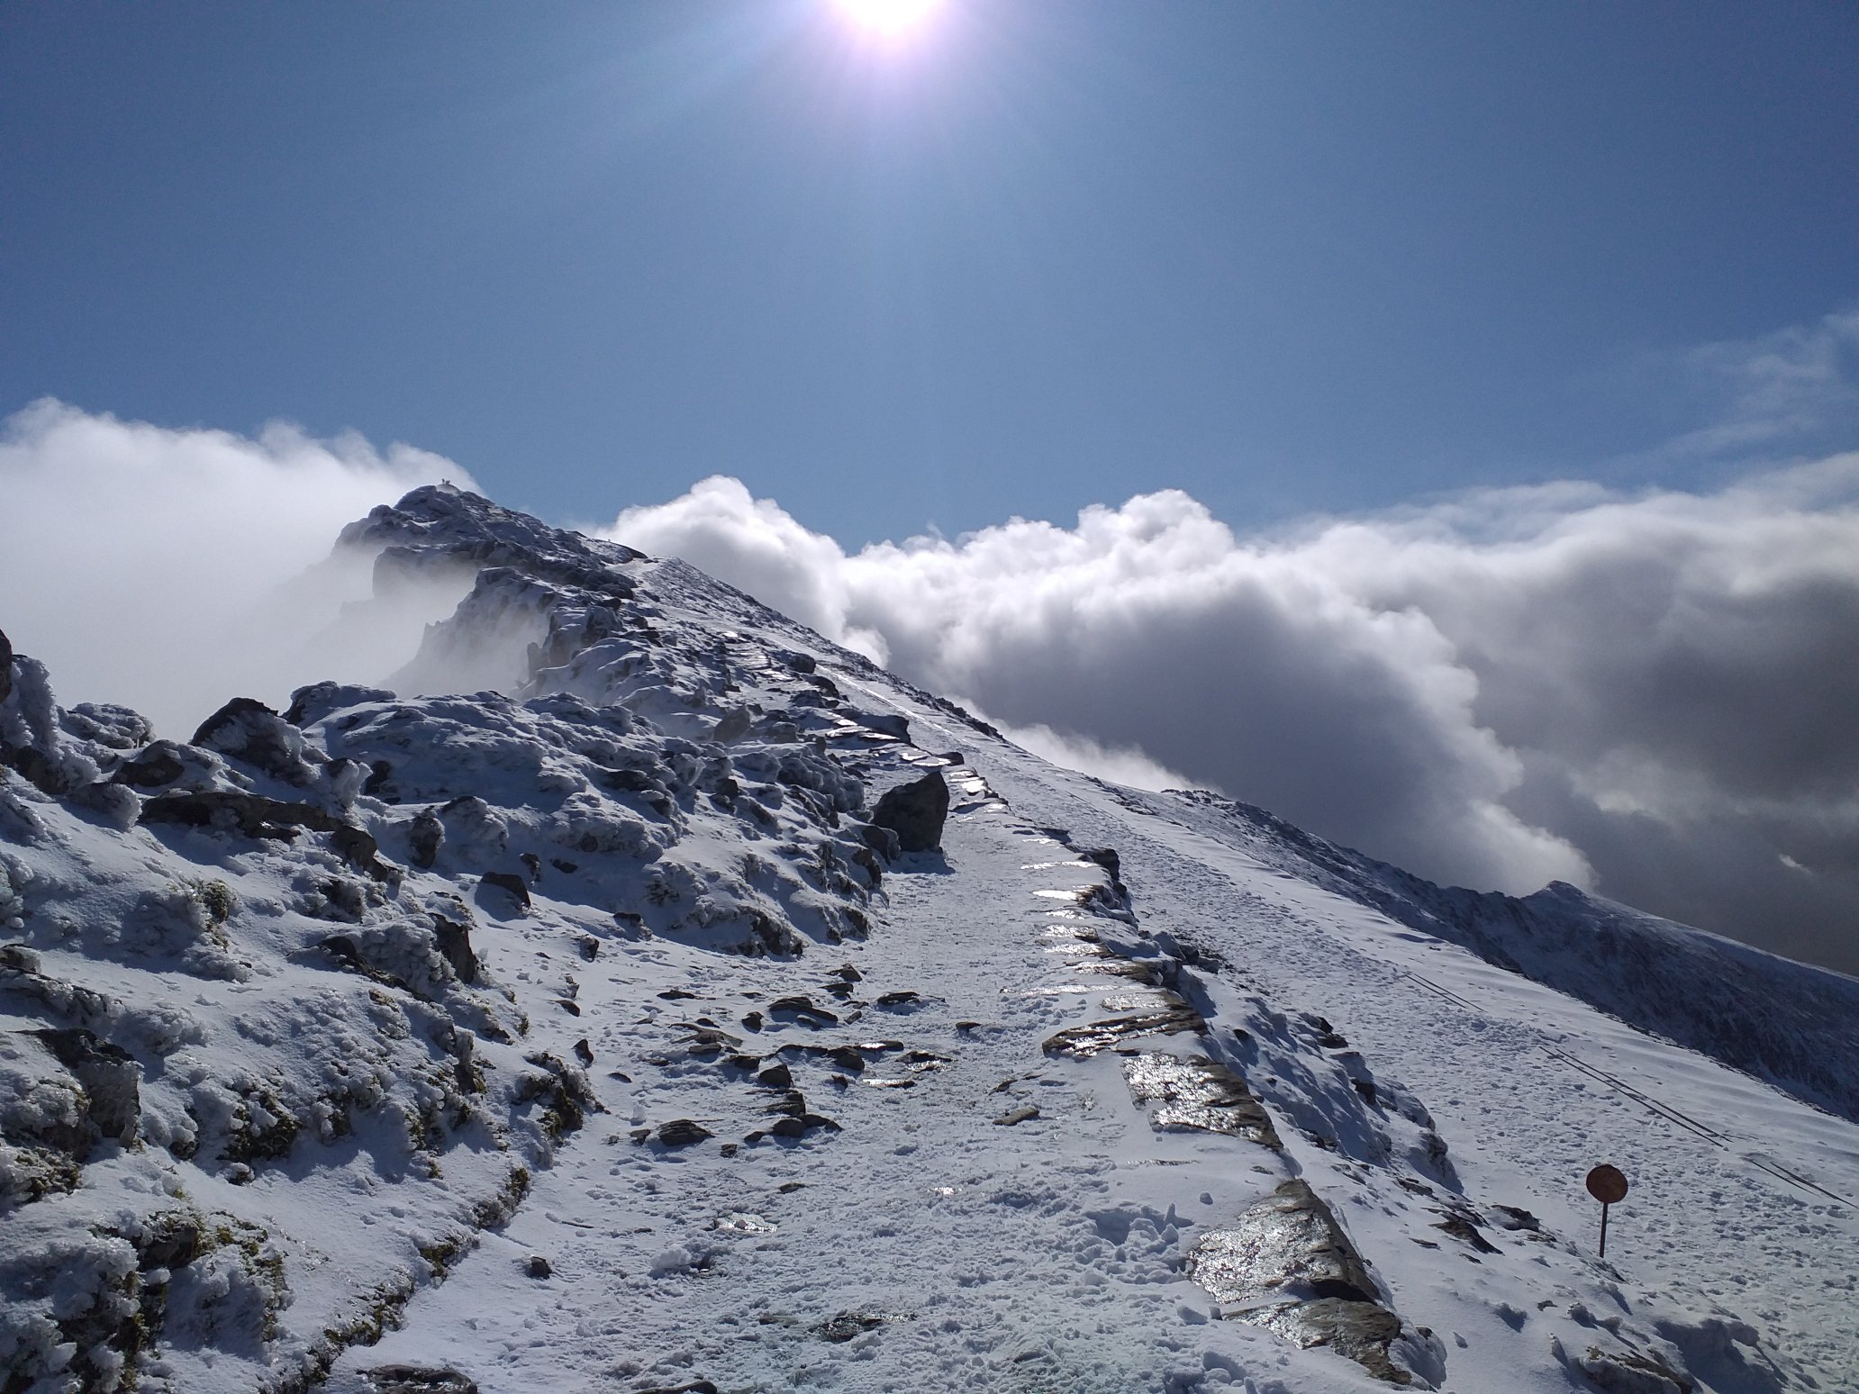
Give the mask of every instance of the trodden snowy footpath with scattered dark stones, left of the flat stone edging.
[[(353, 1351), (333, 1388), (366, 1388), (355, 1372), (387, 1362), (450, 1364), (485, 1394), (703, 1379), (1127, 1392), (1197, 1387), (1210, 1372), (1223, 1385), (1247, 1368), (1376, 1388), (1340, 1357), (1208, 1322), (1212, 1299), (1180, 1273), (1184, 1236), (1268, 1195), (1286, 1175), (1279, 1156), (1234, 1138), (1156, 1134), (1115, 1059), (1041, 1054), (1052, 1032), (1102, 1017), (1119, 985), (1080, 981), (1063, 952), (1075, 892), (1102, 872), (980, 796), (957, 803), (944, 849), (946, 862), (915, 859), (889, 877), (872, 940), (846, 946), (855, 1000), (870, 1004), (857, 1022), (747, 1032), (740, 1019), (755, 1004), (723, 985), (755, 983), (768, 1000), (807, 993), (850, 1015), (822, 993), (831, 950), (784, 965), (699, 963), (712, 985), (669, 963), (608, 965), (612, 950), (578, 972), (584, 1015), (552, 1026), (565, 1046), (586, 1022), (628, 1022), (591, 1041), (612, 1113), (589, 1119), (504, 1232), (415, 1299), (403, 1331)], [(517, 976), (515, 957), (504, 976)], [(679, 987), (701, 996), (669, 1009), (653, 998)], [(892, 991), (920, 1002), (876, 1006)], [(807, 1108), (842, 1132), (725, 1156), (725, 1141), (768, 1126), (760, 1110), (779, 1095), (740, 1071), (675, 1059), (667, 1026), (697, 1015), (764, 1058), (777, 1041), (889, 1039), (903, 1052), (874, 1052), (859, 1076), (794, 1063)], [(948, 1061), (909, 1069), (909, 1050)], [(634, 1087), (602, 1078), (613, 1067)], [(1024, 1108), (1037, 1117), (996, 1123)], [(671, 1117), (718, 1136), (686, 1149), (632, 1143), (632, 1128)], [(532, 1255), (550, 1277), (526, 1275)]]

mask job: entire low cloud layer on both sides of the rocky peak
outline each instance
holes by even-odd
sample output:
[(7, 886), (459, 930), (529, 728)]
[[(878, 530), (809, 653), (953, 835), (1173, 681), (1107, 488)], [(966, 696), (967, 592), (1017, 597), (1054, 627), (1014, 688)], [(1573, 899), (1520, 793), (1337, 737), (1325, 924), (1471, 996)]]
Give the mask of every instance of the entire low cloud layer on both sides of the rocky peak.
[[(0, 426), (0, 628), (188, 734), (377, 680), (457, 595), (336, 532), (450, 461), (43, 401)], [(1567, 879), (1859, 972), (1859, 455), (1708, 494), (1563, 483), (1244, 537), (1182, 493), (848, 554), (742, 483), (623, 513), (1028, 747), (1203, 784), (1441, 881)]]

